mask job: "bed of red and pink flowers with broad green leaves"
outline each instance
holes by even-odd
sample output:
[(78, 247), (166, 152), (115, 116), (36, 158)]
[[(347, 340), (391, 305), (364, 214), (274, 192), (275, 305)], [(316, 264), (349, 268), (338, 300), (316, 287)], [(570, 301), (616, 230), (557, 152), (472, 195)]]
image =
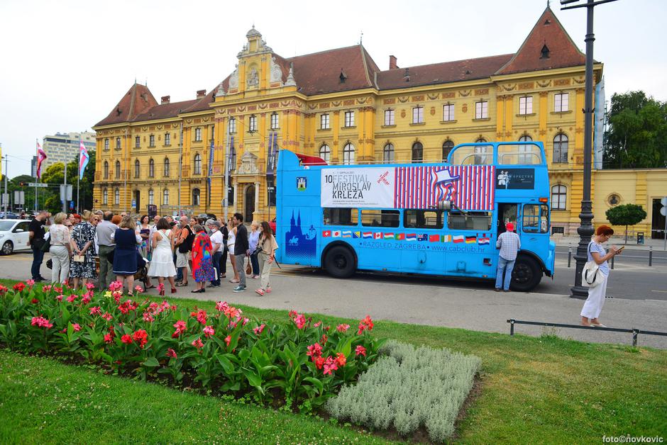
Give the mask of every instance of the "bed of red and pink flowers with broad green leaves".
[(354, 330), (290, 311), (289, 321), (269, 326), (225, 302), (207, 313), (138, 302), (141, 288), (134, 295), (121, 289), (119, 283), (106, 293), (38, 288), (33, 281), (11, 290), (0, 285), (0, 344), (309, 412), (356, 381), (383, 343), (370, 335), (370, 317)]

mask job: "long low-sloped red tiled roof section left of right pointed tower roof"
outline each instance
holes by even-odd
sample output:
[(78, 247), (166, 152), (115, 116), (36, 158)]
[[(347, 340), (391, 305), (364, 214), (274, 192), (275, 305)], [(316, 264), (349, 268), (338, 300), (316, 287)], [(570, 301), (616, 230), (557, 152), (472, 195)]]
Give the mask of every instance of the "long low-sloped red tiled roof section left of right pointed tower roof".
[[(512, 54), (396, 68), (377, 74), (379, 89), (446, 84), (448, 82), (490, 77), (512, 58)], [(409, 81), (407, 80), (409, 77)]]

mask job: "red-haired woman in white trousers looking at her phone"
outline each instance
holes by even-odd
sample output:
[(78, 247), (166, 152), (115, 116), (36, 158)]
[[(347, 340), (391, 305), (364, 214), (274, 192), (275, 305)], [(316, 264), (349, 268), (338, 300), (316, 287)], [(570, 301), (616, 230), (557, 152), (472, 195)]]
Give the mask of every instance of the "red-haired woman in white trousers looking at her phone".
[(588, 243), (588, 261), (595, 261), (602, 274), (602, 282), (595, 287), (588, 288), (588, 298), (581, 309), (581, 324), (584, 326), (606, 327), (600, 323), (597, 317), (600, 317), (602, 305), (605, 304), (605, 295), (607, 293), (607, 278), (609, 277), (609, 264), (607, 260), (620, 253), (616, 246), (612, 246), (609, 252), (602, 247), (603, 242), (609, 241), (614, 235), (614, 230), (608, 225), (597, 227), (595, 236)]

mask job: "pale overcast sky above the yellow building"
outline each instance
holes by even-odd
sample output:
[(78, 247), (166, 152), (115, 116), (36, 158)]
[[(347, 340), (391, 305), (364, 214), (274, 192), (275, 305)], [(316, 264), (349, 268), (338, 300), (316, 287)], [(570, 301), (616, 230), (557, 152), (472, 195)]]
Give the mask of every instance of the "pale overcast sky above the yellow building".
[[(580, 0), (585, 1), (585, 0)], [(0, 144), (9, 177), (30, 174), (35, 140), (81, 132), (132, 86), (194, 99), (234, 69), (253, 26), (282, 57), (359, 43), (380, 69), (517, 52), (546, 0), (0, 0)], [(551, 9), (585, 50), (585, 9)], [(641, 89), (667, 101), (667, 1), (595, 8), (607, 100)], [(363, 37), (362, 37), (363, 33)], [(5, 163), (2, 164), (5, 173)]]

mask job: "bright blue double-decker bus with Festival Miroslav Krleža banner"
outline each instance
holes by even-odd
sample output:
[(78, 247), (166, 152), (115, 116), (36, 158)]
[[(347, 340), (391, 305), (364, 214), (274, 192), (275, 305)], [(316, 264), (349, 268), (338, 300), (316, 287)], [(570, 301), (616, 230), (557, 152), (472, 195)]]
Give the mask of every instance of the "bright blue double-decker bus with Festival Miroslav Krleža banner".
[(512, 222), (522, 247), (512, 289), (553, 276), (541, 142), (457, 145), (438, 164), (334, 166), (281, 150), (276, 174), (281, 263), (338, 278), (360, 270), (491, 280), (497, 237)]

